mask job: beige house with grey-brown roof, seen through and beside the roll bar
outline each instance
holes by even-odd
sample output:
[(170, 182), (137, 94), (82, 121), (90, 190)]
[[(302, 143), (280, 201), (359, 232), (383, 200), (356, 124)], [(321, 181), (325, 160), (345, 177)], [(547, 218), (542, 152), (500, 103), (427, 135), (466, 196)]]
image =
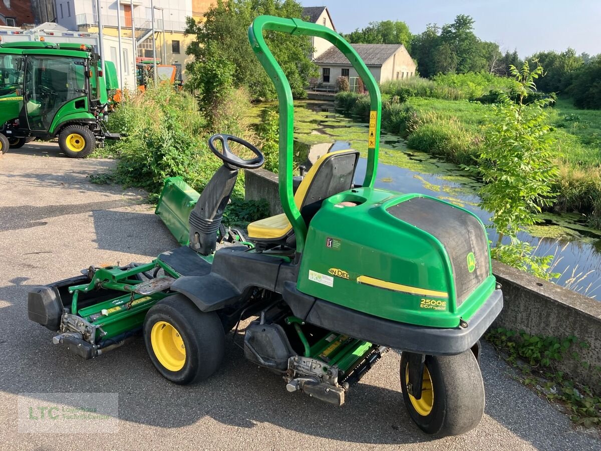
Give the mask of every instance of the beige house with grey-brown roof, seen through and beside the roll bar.
[[(351, 44), (378, 83), (410, 78), (415, 75), (415, 62), (403, 44)], [(343, 53), (330, 46), (314, 63), (319, 66), (322, 84), (335, 84), (338, 77), (356, 78), (358, 74)]]

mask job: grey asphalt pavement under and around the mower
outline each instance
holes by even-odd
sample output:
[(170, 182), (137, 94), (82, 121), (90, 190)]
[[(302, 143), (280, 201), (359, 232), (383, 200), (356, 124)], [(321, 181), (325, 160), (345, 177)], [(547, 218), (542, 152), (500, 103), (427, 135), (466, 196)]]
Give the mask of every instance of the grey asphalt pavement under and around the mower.
[[(159, 376), (141, 339), (89, 361), (52, 345), (53, 333), (28, 321), (31, 287), (91, 264), (148, 262), (177, 247), (142, 203), (144, 192), (90, 183), (90, 174), (112, 165), (35, 142), (0, 157), (0, 449), (601, 450), (596, 432), (575, 429), (523, 387), (487, 343), (483, 420), (468, 434), (438, 440), (407, 416), (396, 352), (338, 408), (288, 393), (279, 376), (245, 360), (231, 333), (221, 369), (187, 387)], [(118, 393), (116, 431), (19, 433), (19, 394), (54, 392)]]

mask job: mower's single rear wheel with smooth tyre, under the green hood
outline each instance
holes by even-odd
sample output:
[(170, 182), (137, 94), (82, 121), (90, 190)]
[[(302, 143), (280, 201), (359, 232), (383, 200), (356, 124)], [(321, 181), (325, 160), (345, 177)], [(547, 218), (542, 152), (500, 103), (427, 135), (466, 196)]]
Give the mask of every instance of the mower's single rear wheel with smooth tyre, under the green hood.
[(407, 354), (401, 355), (401, 390), (409, 416), (419, 429), (439, 437), (474, 429), (484, 414), (484, 384), (474, 353), (427, 355), (420, 399), (407, 391)]

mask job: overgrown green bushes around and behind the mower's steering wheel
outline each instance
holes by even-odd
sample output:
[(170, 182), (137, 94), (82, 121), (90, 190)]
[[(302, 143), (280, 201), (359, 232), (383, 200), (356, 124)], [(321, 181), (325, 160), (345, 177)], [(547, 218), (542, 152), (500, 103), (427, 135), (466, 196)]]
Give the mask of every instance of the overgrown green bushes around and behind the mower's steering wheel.
[[(147, 87), (144, 94), (126, 98), (111, 114), (109, 127), (126, 138), (111, 146), (117, 156), (117, 168), (112, 174), (97, 174), (95, 183), (118, 181), (150, 193), (156, 201), (163, 179), (182, 176), (198, 192), (202, 192), (221, 161), (207, 146), (212, 124), (223, 133), (237, 134), (257, 142), (243, 117), (251, 108), (248, 95), (242, 89), (231, 90), (221, 97), (215, 114), (207, 120), (198, 111), (197, 100), (185, 91), (168, 85)], [(238, 177), (232, 203), (225, 212), (228, 224), (245, 225), (269, 214), (265, 203), (244, 200), (244, 177)]]

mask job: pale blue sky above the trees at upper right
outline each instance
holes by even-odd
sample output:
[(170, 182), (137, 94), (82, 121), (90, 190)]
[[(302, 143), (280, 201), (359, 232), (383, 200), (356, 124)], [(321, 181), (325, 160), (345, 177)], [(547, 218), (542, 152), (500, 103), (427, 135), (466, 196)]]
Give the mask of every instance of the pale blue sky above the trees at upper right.
[(474, 32), (502, 51), (520, 57), (537, 51), (601, 54), (601, 0), (301, 0), (303, 6), (325, 5), (338, 32), (348, 33), (369, 22), (403, 20), (413, 34), (428, 23), (451, 23), (457, 14), (475, 20)]

